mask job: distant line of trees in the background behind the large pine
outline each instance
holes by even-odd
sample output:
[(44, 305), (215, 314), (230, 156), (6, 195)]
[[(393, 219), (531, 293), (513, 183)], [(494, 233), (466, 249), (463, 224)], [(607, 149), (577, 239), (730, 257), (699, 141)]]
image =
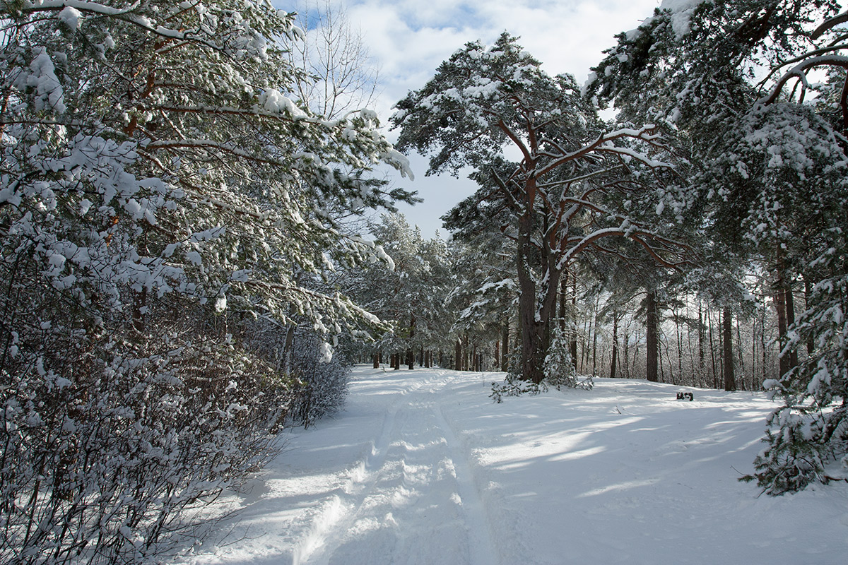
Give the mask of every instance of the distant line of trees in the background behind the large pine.
[[(438, 235), (427, 241), (402, 214), (384, 215), (372, 231), (398, 263), (393, 270), (357, 271), (352, 276), (361, 280), (348, 288), (357, 302), (392, 322), (394, 330), (373, 343), (352, 345), (350, 357), (375, 368), (518, 370), (517, 291), (509, 279), (493, 282), (492, 255)], [(424, 273), (427, 277), (421, 278)], [(764, 290), (751, 295), (745, 311), (732, 321), (735, 380), (742, 391), (761, 391), (764, 381), (779, 376), (778, 312), (774, 297)], [(657, 380), (724, 388), (722, 308), (687, 289), (678, 288), (676, 295), (671, 291), (657, 303)], [(572, 277), (559, 296), (565, 307), (556, 324), (568, 329), (577, 373), (646, 378), (645, 298), (644, 290), (637, 289), (622, 302), (591, 273)], [(804, 296), (795, 300), (804, 302)], [(806, 352), (805, 347), (801, 358)]]

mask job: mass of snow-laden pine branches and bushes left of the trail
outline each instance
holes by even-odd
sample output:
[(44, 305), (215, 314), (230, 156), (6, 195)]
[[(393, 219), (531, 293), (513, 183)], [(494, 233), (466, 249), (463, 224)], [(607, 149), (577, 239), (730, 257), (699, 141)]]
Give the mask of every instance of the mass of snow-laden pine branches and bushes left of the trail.
[(304, 409), (246, 332), (371, 327), (311, 283), (376, 258), (339, 218), (412, 199), (370, 175), (406, 160), (369, 110), (302, 109), (303, 33), (265, 0), (12, 2), (0, 26), (0, 561), (159, 560), (295, 400), (338, 403), (318, 344)]

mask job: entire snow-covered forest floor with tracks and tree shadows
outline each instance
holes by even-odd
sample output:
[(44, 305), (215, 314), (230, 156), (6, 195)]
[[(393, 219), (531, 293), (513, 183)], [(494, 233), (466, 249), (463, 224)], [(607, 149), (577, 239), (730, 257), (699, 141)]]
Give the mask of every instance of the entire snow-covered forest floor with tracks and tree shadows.
[[(359, 367), (192, 565), (845, 563), (848, 485), (739, 483), (772, 403), (598, 379), (493, 404), (503, 374)], [(694, 402), (676, 400), (690, 390)]]

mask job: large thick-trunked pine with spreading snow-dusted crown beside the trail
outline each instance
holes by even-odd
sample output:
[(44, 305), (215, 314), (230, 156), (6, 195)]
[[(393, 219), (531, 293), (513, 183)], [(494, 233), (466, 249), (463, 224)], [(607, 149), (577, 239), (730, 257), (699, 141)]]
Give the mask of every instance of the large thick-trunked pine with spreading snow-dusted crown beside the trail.
[[(515, 238), (522, 379), (544, 377), (560, 277), (580, 253), (619, 236), (639, 241), (659, 262), (679, 261), (679, 247), (633, 221), (624, 204), (653, 198), (657, 206), (644, 183), (665, 167), (649, 155), (663, 149), (655, 128), (605, 131), (573, 78), (546, 75), (516, 38), (466, 44), (397, 108), (399, 147), (434, 152), (429, 173), (474, 168), (477, 208), (488, 202)], [(520, 152), (520, 163), (505, 159), (505, 144)], [(622, 197), (628, 191), (639, 198)], [(486, 216), (473, 206), (466, 212), (471, 222)]]

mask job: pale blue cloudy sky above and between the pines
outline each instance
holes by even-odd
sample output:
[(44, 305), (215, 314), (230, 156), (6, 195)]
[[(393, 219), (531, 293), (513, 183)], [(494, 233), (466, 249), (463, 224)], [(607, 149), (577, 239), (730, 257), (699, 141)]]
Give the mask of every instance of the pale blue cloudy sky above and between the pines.
[[(312, 0), (313, 2), (315, 0)], [(571, 73), (583, 84), (589, 68), (612, 47), (615, 35), (633, 30), (653, 14), (660, 0), (318, 0), (342, 6), (350, 25), (361, 32), (371, 61), (380, 74), (380, 97), (375, 110), (388, 125), (395, 102), (421, 88), (436, 68), (466, 42), (487, 45), (503, 32), (520, 36), (520, 43), (543, 63), (550, 75)], [(304, 0), (274, 0), (276, 8), (293, 11)], [(388, 139), (396, 131), (386, 131)], [(440, 216), (476, 186), (466, 178), (425, 176), (427, 158), (408, 155), (414, 181), (393, 174), (394, 186), (418, 191), (424, 202), (399, 206), (410, 224), (426, 238), (441, 229)]]

